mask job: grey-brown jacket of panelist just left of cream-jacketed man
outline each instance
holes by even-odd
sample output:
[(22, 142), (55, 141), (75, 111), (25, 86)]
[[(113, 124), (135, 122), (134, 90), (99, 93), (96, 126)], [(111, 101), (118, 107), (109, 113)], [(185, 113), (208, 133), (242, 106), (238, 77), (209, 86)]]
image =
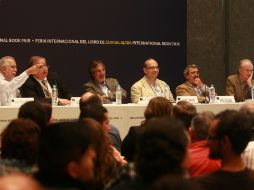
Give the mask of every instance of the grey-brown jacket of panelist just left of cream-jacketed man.
[[(107, 88), (110, 90), (111, 93), (108, 94), (108, 99), (106, 99), (103, 103), (110, 103), (116, 100), (116, 85), (118, 85), (118, 81), (114, 78), (106, 78), (105, 83)], [(101, 90), (98, 83), (95, 81), (90, 81), (83, 85), (84, 93), (92, 92), (98, 94), (100, 96), (105, 95), (104, 92)], [(127, 92), (121, 88), (122, 90), (122, 100), (125, 100), (127, 97)]]

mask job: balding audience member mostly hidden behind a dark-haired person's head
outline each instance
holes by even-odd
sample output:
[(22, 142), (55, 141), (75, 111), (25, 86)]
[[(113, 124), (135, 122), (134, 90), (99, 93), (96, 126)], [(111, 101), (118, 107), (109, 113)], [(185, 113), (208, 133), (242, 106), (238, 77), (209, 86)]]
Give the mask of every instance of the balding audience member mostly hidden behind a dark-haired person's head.
[[(82, 111), (82, 108), (84, 106), (88, 105), (101, 105), (102, 106), (102, 99), (98, 94), (94, 94), (92, 92), (86, 92), (84, 93), (79, 101), (79, 108), (80, 108), (80, 113)], [(109, 124), (109, 131), (108, 131), (108, 136), (112, 142), (112, 145), (121, 152), (121, 145), (122, 145), (122, 140), (120, 137), (120, 132), (119, 130), (112, 124)]]

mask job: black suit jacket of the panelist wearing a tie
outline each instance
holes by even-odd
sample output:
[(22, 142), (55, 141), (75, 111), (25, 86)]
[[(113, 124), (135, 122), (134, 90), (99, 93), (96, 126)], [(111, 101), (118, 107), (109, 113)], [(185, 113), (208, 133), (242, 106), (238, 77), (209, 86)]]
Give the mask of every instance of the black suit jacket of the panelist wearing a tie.
[[(49, 73), (47, 80), (51, 88), (54, 84), (57, 85), (59, 98), (71, 98), (71, 94), (64, 89), (62, 83), (57, 79), (57, 75), (55, 73)], [(40, 83), (32, 75), (30, 75), (26, 82), (20, 87), (20, 93), (22, 97), (34, 97), (35, 100), (45, 100), (51, 102), (51, 98), (45, 98)]]

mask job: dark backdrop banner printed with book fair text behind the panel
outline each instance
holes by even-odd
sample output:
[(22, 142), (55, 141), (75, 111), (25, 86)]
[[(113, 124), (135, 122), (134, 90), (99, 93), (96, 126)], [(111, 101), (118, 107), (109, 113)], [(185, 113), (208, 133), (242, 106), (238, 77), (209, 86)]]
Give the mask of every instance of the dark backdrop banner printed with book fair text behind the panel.
[(0, 56), (16, 58), (18, 73), (44, 56), (73, 96), (90, 80), (88, 64), (101, 59), (130, 97), (154, 58), (159, 79), (174, 93), (186, 66), (185, 0), (1, 0)]

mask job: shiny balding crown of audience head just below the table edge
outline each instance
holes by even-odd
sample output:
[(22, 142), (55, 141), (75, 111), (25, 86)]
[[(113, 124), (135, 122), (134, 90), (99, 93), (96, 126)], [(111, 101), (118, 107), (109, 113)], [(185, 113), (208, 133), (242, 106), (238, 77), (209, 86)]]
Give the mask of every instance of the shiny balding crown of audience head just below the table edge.
[(92, 92), (86, 92), (80, 97), (79, 109), (81, 111), (84, 106), (93, 105), (93, 104), (102, 105), (101, 97), (97, 94), (92, 93)]

